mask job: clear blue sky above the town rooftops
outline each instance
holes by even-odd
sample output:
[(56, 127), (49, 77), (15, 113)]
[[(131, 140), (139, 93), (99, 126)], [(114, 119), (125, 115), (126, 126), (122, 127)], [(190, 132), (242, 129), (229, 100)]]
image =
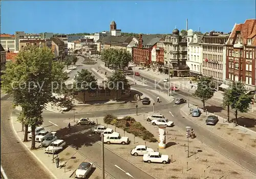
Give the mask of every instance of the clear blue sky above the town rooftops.
[(172, 33), (175, 26), (201, 32), (231, 32), (255, 18), (254, 0), (170, 1), (1, 1), (1, 33)]

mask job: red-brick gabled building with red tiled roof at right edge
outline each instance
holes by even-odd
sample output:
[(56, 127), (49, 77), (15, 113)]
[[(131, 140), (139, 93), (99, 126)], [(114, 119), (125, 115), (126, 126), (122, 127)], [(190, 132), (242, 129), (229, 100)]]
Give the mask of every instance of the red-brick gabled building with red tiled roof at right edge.
[(227, 81), (242, 81), (248, 90), (255, 89), (256, 19), (236, 24), (226, 43)]

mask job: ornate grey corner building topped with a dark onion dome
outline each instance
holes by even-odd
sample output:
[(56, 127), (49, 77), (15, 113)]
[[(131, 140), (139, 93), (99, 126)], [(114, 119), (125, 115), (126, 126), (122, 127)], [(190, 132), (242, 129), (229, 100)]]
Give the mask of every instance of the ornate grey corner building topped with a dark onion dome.
[(174, 29), (172, 35), (167, 35), (164, 41), (164, 73), (168, 69), (174, 76), (188, 76), (189, 68), (187, 61), (187, 38), (181, 36), (178, 29)]

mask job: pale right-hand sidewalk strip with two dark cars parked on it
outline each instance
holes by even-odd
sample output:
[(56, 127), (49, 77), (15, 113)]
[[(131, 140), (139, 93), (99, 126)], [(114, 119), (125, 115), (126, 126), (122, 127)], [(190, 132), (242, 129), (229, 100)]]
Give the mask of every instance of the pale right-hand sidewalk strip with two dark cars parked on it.
[[(216, 133), (217, 135), (221, 136), (222, 138), (232, 142), (233, 144), (236, 144), (251, 153), (256, 153), (256, 132), (242, 127), (242, 126), (235, 126), (234, 123), (228, 123), (226, 119), (218, 116), (219, 121), (215, 126), (209, 126), (205, 124), (205, 120), (207, 119), (207, 116), (215, 115), (212, 113), (205, 113), (201, 110), (202, 114), (200, 117), (192, 117), (190, 114), (190, 109), (195, 109), (197, 106), (190, 105), (188, 107), (187, 104), (185, 104), (181, 109), (181, 114), (186, 119), (189, 119), (200, 126)], [(217, 116), (217, 115), (216, 115)]]

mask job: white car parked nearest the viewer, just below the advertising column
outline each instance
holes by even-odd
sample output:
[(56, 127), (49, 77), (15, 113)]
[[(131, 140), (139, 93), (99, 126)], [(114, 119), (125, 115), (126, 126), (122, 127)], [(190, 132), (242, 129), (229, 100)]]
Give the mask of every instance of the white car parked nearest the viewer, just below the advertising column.
[(163, 163), (167, 164), (169, 162), (169, 156), (163, 155), (160, 152), (148, 152), (143, 155), (143, 161), (147, 163)]

